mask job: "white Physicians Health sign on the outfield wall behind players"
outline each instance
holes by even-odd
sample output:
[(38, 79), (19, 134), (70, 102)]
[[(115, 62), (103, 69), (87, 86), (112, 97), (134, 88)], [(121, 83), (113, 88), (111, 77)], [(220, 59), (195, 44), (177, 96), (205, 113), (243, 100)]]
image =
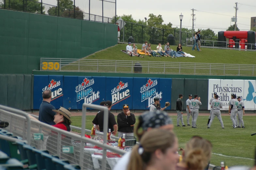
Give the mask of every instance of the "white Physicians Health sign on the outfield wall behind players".
[(240, 96), (241, 100), (245, 103), (245, 110), (255, 110), (255, 80), (222, 80), (222, 79), (209, 79), (208, 89), (208, 110), (210, 110), (209, 102), (216, 92), (219, 100), (222, 101), (222, 110), (229, 109), (229, 100), (231, 94)]

